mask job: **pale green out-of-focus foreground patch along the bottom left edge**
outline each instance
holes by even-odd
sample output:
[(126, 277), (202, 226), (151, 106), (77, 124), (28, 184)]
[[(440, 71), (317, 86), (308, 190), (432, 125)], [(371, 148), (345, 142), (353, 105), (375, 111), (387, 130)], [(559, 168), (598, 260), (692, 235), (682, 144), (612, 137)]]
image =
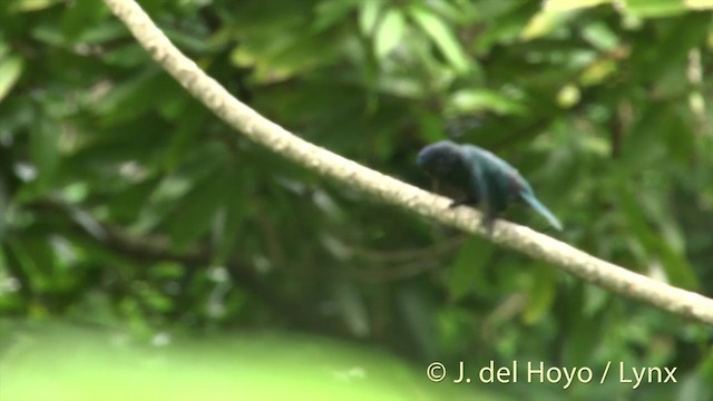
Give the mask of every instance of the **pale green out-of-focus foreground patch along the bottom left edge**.
[(87, 329), (0, 327), (3, 401), (505, 400), (322, 338), (256, 333), (146, 345)]

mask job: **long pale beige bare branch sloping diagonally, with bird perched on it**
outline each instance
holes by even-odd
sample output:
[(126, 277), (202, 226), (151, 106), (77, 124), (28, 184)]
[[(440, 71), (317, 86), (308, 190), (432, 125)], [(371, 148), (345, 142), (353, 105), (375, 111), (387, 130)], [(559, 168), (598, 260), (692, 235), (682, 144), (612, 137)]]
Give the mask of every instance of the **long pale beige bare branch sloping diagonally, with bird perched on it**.
[(480, 213), (449, 209), (449, 199), (404, 184), (310, 144), (231, 96), (184, 56), (134, 0), (104, 0), (138, 42), (168, 74), (211, 111), (251, 140), (318, 174), (345, 183), (385, 203), (412, 211), (494, 243), (545, 261), (589, 283), (646, 302), (681, 316), (713, 325), (713, 300), (598, 260), (530, 228), (499, 221), (492, 235), (479, 224)]

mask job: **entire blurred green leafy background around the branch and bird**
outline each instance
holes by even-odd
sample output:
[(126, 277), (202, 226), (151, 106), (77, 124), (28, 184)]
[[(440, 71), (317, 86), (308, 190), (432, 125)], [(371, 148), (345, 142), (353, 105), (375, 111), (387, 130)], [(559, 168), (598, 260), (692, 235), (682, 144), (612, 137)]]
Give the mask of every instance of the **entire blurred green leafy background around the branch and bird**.
[[(423, 145), (478, 144), (557, 237), (713, 296), (710, 1), (141, 6), (306, 140), (423, 188)], [(1, 400), (713, 399), (713, 327), (263, 150), (100, 1), (0, 6), (0, 314)], [(595, 378), (458, 385), (460, 361)], [(609, 361), (677, 383), (599, 384)]]

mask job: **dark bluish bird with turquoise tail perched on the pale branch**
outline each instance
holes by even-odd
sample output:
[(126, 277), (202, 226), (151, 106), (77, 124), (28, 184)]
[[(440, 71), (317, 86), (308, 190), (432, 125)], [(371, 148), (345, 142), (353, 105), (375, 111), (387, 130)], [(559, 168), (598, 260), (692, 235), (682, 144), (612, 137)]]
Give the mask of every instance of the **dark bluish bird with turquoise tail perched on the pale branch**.
[(495, 219), (515, 200), (528, 204), (557, 231), (561, 223), (535, 196), (520, 173), (491, 151), (470, 144), (440, 140), (423, 147), (417, 164), (437, 183), (462, 193), (450, 207), (475, 205), (482, 208), (484, 225), (491, 231)]

